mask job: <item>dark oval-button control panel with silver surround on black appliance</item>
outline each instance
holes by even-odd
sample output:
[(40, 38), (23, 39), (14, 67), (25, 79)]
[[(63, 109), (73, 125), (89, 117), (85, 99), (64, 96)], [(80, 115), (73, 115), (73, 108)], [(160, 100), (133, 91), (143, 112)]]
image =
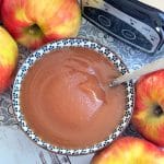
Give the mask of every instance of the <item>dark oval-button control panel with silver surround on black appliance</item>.
[(161, 42), (157, 28), (154, 30), (106, 1), (84, 0), (82, 10), (84, 17), (93, 24), (143, 51), (154, 52)]

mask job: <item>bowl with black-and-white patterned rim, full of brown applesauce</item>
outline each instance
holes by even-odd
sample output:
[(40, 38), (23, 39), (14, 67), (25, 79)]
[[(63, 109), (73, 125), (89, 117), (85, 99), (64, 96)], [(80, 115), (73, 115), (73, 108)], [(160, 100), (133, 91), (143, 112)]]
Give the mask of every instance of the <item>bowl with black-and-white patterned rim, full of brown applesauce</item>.
[(84, 38), (52, 42), (21, 66), (12, 92), (23, 131), (46, 150), (68, 155), (94, 153), (128, 126), (132, 81), (109, 86), (128, 72), (110, 49)]

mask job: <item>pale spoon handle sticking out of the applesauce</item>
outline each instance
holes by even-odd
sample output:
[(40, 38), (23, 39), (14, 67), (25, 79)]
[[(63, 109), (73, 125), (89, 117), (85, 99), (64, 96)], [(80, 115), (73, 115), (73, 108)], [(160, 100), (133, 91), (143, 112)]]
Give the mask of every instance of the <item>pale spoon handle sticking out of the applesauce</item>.
[(126, 73), (124, 75), (120, 75), (120, 77), (114, 79), (109, 83), (109, 86), (112, 87), (112, 86), (119, 85), (124, 82), (127, 82), (127, 81), (132, 80), (132, 79), (138, 79), (141, 75), (144, 75), (147, 73), (151, 73), (153, 71), (157, 71), (160, 69), (164, 69), (164, 58), (152, 61), (151, 63), (147, 63), (145, 66), (141, 67), (138, 70), (134, 70), (132, 72)]

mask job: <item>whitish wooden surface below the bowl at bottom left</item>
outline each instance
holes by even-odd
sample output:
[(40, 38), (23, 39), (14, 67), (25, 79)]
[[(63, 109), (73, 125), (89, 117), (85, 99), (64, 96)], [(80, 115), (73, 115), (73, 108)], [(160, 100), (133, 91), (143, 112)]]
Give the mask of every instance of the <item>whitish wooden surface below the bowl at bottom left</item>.
[(89, 164), (92, 155), (56, 155), (31, 141), (17, 126), (0, 127), (0, 164)]

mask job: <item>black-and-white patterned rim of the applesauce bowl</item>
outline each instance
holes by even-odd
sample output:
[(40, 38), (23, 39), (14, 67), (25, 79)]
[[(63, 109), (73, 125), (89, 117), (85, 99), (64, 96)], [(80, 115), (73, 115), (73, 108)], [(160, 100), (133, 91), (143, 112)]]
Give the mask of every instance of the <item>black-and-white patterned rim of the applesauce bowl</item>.
[(49, 43), (42, 48), (35, 50), (32, 52), (27, 59), (24, 61), (22, 67), (20, 68), (15, 80), (13, 84), (13, 91), (12, 91), (12, 105), (14, 109), (15, 117), (19, 121), (20, 127), (23, 129), (23, 131), (28, 136), (30, 139), (32, 139), (37, 145), (48, 150), (52, 151), (55, 153), (59, 154), (67, 154), (67, 155), (82, 155), (82, 154), (89, 154), (89, 153), (94, 153), (108, 144), (110, 144), (118, 136), (120, 136), (125, 128), (128, 126), (131, 116), (132, 116), (132, 110), (133, 110), (133, 104), (134, 104), (134, 89), (133, 89), (133, 83), (132, 81), (128, 81), (125, 83), (125, 89), (126, 89), (126, 108), (124, 116), (119, 122), (119, 125), (115, 128), (115, 130), (103, 141), (85, 148), (85, 149), (63, 149), (59, 148), (56, 145), (51, 145), (48, 142), (45, 142), (42, 140), (34, 131), (31, 129), (31, 127), (27, 126), (24, 116), (22, 114), (21, 105), (20, 105), (20, 92), (21, 92), (21, 84), (22, 80), (26, 75), (28, 69), (37, 61), (40, 59), (43, 56), (46, 54), (63, 48), (63, 47), (85, 47), (89, 49), (93, 49), (108, 58), (109, 61), (114, 63), (114, 66), (117, 68), (117, 70), (121, 73), (125, 74), (128, 72), (128, 69), (126, 65), (122, 62), (122, 60), (113, 51), (110, 51), (109, 48), (102, 46), (97, 43), (94, 43), (92, 40), (87, 40), (84, 38), (67, 38), (67, 39), (61, 39), (58, 42), (52, 42)]

